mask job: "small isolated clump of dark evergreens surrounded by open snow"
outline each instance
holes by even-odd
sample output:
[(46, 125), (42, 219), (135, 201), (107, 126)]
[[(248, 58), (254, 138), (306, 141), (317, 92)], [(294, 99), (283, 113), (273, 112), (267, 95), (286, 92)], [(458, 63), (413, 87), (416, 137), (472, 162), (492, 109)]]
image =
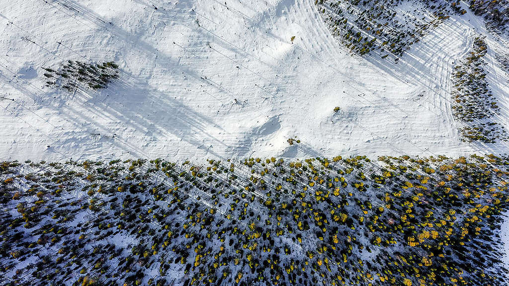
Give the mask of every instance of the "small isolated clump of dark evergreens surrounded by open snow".
[(67, 91), (78, 88), (104, 89), (112, 80), (119, 78), (119, 66), (115, 62), (102, 64), (67, 61), (58, 69), (45, 70), (47, 87), (59, 87)]

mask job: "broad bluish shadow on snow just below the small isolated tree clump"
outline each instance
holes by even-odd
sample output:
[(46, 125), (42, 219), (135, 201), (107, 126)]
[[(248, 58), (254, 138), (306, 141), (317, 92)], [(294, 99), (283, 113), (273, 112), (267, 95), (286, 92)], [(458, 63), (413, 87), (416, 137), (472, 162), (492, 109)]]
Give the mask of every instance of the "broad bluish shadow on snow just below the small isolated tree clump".
[[(151, 90), (143, 80), (124, 76), (96, 94), (93, 99), (84, 92), (75, 95), (74, 103), (62, 106), (62, 116), (75, 125), (91, 122), (90, 133), (119, 141), (127, 151), (145, 154), (143, 147), (160, 139), (180, 138), (186, 144), (204, 148), (224, 143), (211, 132), (224, 131), (211, 119), (175, 99), (179, 90), (161, 93)], [(96, 131), (94, 131), (96, 130)], [(141, 137), (141, 138), (140, 138)], [(208, 151), (217, 156), (213, 150)]]

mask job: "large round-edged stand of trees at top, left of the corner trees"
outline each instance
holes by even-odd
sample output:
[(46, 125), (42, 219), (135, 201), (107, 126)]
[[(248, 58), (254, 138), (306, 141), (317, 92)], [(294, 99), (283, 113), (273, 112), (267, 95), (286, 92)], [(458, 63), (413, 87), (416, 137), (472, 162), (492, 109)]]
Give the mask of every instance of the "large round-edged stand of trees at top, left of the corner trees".
[[(431, 18), (406, 13), (398, 17), (395, 9), (400, 0), (315, 0), (325, 15), (332, 34), (342, 40), (352, 52), (365, 55), (371, 52), (386, 58), (392, 54), (398, 59), (405, 50), (460, 9), (459, 1), (419, 1), (431, 13)], [(414, 11), (415, 12), (415, 11)], [(424, 14), (422, 14), (424, 15)]]

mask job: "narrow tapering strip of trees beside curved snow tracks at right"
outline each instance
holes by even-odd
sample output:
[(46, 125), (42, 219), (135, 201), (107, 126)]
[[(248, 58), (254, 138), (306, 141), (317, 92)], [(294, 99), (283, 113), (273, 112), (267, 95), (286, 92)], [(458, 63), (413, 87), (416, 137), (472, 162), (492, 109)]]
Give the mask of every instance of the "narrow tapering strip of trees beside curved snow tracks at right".
[(503, 126), (492, 122), (499, 106), (489, 89), (484, 66), (488, 46), (484, 38), (474, 39), (472, 51), (454, 68), (452, 92), (455, 119), (467, 126), (460, 129), (465, 140), (493, 143), (506, 140)]

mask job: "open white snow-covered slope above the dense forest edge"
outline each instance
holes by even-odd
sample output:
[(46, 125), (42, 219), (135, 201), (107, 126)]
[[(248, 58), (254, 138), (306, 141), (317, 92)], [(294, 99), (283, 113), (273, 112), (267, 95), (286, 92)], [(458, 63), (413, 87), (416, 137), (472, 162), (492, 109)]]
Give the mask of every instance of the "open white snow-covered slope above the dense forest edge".
[[(14, 99), (0, 101), (3, 158), (505, 153), (461, 142), (451, 115), (454, 63), (485, 32), (473, 15), (452, 16), (393, 64), (351, 56), (312, 0), (0, 6), (0, 89)], [(487, 41), (506, 110), (493, 58), (503, 43)], [(116, 61), (121, 80), (100, 92), (43, 87), (41, 67), (67, 60)]]

